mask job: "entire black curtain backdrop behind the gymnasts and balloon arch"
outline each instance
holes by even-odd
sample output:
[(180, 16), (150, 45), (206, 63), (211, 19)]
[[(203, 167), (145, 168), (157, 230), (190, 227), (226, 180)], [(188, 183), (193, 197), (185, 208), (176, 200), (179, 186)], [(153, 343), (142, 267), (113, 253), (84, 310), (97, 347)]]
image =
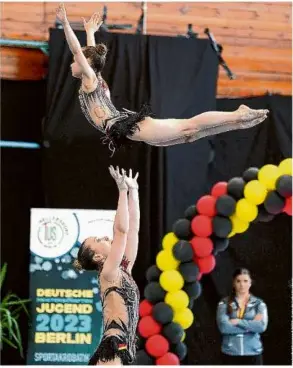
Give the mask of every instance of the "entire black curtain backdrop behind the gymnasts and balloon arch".
[[(85, 41), (82, 32), (78, 36)], [(161, 117), (186, 117), (214, 108), (213, 78), (217, 66), (206, 41), (163, 37), (138, 40), (138, 36), (129, 35), (102, 35), (103, 38), (111, 49), (104, 76), (119, 108), (137, 109), (141, 102), (149, 101)], [(70, 54), (62, 31), (53, 31), (50, 42), (45, 148), (43, 152), (2, 150), (1, 253), (2, 262), (9, 262), (4, 292), (12, 289), (21, 297), (28, 296), (30, 208), (114, 208), (117, 193), (104, 174), (109, 163), (134, 166), (141, 173), (141, 248), (134, 276), (142, 288), (145, 270), (155, 261), (162, 234), (170, 230), (170, 224), (182, 215), (186, 206), (206, 193), (214, 182), (239, 175), (251, 164), (277, 163), (282, 157), (291, 156), (291, 98), (265, 96), (217, 101), (218, 109), (228, 111), (242, 102), (269, 107), (272, 118), (260, 127), (168, 149), (132, 144), (110, 160), (99, 133), (79, 110), (78, 84), (69, 75)], [(164, 42), (171, 46), (176, 69), (166, 57)], [(194, 47), (190, 47), (192, 44)], [(189, 55), (194, 68), (185, 55)], [(161, 69), (160, 74), (157, 68)], [(41, 141), (45, 87), (45, 82), (2, 81), (2, 139)], [(21, 103), (17, 111), (15, 96)], [(218, 256), (217, 268), (211, 276), (203, 278), (204, 292), (194, 307), (196, 319), (187, 334), (186, 364), (219, 364), (216, 304), (230, 291), (231, 273), (238, 265), (251, 269), (256, 280), (254, 291), (268, 304), (270, 324), (264, 334), (265, 362), (290, 363), (290, 224), (291, 219), (281, 215), (270, 224), (253, 225), (242, 236), (233, 238), (228, 251)], [(25, 344), (26, 323), (24, 317), (21, 328)], [(5, 351), (4, 364), (24, 364), (15, 352)]]

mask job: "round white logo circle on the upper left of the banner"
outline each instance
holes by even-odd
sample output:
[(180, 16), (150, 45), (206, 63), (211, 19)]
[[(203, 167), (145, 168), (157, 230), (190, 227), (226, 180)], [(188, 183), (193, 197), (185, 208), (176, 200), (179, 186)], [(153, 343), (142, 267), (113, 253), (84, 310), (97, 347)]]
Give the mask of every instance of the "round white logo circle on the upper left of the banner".
[(78, 222), (73, 214), (42, 216), (32, 228), (31, 251), (44, 258), (66, 254), (78, 238)]

